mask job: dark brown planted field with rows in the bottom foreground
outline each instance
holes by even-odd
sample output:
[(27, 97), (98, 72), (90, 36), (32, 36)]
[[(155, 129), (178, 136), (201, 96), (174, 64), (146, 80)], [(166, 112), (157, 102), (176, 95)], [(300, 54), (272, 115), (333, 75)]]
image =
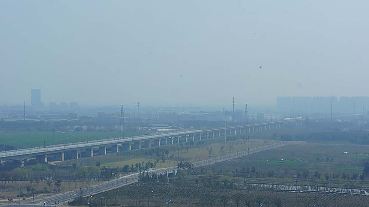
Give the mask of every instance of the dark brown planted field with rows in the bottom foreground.
[[(153, 199), (153, 196), (154, 199)], [(178, 186), (159, 183), (134, 183), (118, 189), (96, 194), (92, 197), (94, 206), (104, 206), (100, 198), (107, 198), (107, 206), (366, 206), (368, 196), (261, 192), (238, 189), (216, 189), (198, 186)], [(87, 203), (84, 199), (72, 204)], [(280, 201), (280, 203), (279, 203)], [(101, 202), (101, 203), (100, 203)]]

